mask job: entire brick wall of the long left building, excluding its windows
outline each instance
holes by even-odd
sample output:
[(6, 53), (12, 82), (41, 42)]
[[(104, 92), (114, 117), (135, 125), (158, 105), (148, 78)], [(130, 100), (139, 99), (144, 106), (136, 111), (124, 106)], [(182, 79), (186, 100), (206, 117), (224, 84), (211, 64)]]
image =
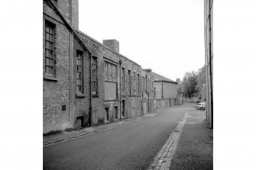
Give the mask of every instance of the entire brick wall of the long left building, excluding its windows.
[[(52, 1), (55, 3), (57, 8), (59, 8), (63, 17), (72, 23), (74, 28), (78, 28), (78, 1)], [(70, 2), (72, 2), (73, 7), (71, 8)], [(70, 10), (71, 8), (71, 10)], [(77, 10), (75, 10), (77, 8)], [(72, 11), (72, 12), (70, 12)], [(72, 16), (70, 16), (72, 14)], [(76, 17), (77, 15), (77, 17)], [(51, 130), (64, 130), (68, 127), (79, 127), (88, 126), (89, 124), (89, 107), (90, 107), (90, 59), (89, 53), (83, 49), (81, 44), (73, 38), (70, 31), (66, 28), (61, 21), (60, 16), (56, 14), (45, 2), (44, 2), (44, 20), (43, 29), (45, 29), (45, 20), (52, 21), (56, 24), (56, 34), (54, 37), (54, 47), (57, 58), (56, 63), (56, 75), (57, 81), (52, 81), (49, 79), (44, 79), (44, 133)], [(77, 25), (77, 27), (76, 27)], [(109, 49), (102, 45), (102, 43), (93, 40), (91, 37), (83, 34), (79, 30), (76, 32), (86, 47), (91, 52), (91, 56), (97, 57), (97, 81), (98, 81), (98, 94), (94, 96), (92, 100), (92, 125), (99, 123), (106, 123), (105, 108), (109, 108), (109, 121), (115, 121), (116, 110), (118, 108), (118, 119), (120, 119), (121, 111), (121, 100), (125, 100), (125, 118), (128, 117), (138, 117), (143, 114), (143, 101), (142, 94), (148, 95), (147, 101), (147, 113), (148, 111), (154, 111), (154, 98), (153, 92), (151, 91), (151, 83), (145, 91), (142, 90), (142, 77), (147, 77), (147, 82), (152, 79), (151, 75), (144, 71), (140, 65), (131, 61), (131, 59), (122, 56), (119, 53)], [(71, 35), (71, 37), (70, 37)], [(43, 37), (44, 37), (43, 33)], [(44, 38), (43, 38), (44, 42)], [(70, 44), (72, 44), (72, 49), (70, 49)], [(45, 46), (45, 45), (44, 45)], [(44, 49), (44, 47), (43, 47)], [(73, 50), (73, 53), (70, 53)], [(83, 96), (76, 95), (76, 52), (77, 50), (83, 52)], [(43, 50), (44, 51), (44, 50)], [(113, 63), (117, 64), (117, 100), (105, 101), (105, 75), (104, 75), (104, 63), (105, 60), (111, 60)], [(122, 98), (120, 98), (120, 64), (119, 60), (122, 60), (122, 67), (125, 68), (125, 91), (122, 91)], [(44, 52), (43, 52), (44, 60)], [(70, 65), (70, 63), (73, 63)], [(128, 93), (128, 70), (131, 70), (131, 94)], [(140, 84), (141, 88), (134, 94), (134, 74), (140, 75), (140, 79), (136, 79), (135, 85)], [(43, 72), (44, 73), (44, 72)], [(71, 79), (71, 80), (70, 80)], [(72, 81), (72, 82), (70, 82)], [(138, 83), (140, 82), (140, 83)], [(72, 88), (73, 87), (73, 88)], [(71, 90), (70, 90), (71, 89)], [(71, 94), (71, 95), (70, 95)], [(66, 111), (62, 111), (62, 106), (66, 106)], [(70, 107), (72, 106), (72, 107)], [(83, 117), (83, 124), (79, 118)], [(73, 119), (74, 118), (74, 119)]]

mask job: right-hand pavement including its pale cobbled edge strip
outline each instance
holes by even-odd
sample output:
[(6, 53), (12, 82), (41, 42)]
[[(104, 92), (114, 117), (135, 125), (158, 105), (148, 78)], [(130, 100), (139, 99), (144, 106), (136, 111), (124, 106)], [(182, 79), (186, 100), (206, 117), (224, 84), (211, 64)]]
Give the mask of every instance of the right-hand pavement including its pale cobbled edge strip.
[(148, 170), (213, 169), (213, 130), (206, 111), (192, 107), (180, 120)]

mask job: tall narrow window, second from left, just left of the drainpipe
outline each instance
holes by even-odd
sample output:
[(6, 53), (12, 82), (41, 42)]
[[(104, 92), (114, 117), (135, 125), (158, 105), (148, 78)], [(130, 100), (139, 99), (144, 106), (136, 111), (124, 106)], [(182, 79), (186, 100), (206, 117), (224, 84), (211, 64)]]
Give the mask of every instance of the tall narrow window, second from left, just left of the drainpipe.
[(76, 50), (76, 86), (77, 92), (83, 93), (83, 53)]

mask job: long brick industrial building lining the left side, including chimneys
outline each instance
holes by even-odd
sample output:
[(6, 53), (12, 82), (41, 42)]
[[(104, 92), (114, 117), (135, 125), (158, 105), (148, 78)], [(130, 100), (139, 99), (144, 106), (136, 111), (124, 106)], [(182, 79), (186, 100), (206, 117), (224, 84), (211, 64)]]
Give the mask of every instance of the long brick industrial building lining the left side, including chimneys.
[(43, 1), (44, 132), (86, 127), (154, 111), (153, 77), (79, 30), (78, 0)]

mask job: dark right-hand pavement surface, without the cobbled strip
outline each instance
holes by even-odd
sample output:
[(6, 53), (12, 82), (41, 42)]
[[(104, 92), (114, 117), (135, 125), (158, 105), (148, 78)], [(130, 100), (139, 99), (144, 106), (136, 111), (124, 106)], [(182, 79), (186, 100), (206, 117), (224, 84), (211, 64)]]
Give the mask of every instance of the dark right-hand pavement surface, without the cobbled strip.
[(170, 170), (213, 169), (213, 130), (206, 121), (206, 111), (191, 110), (173, 156)]

